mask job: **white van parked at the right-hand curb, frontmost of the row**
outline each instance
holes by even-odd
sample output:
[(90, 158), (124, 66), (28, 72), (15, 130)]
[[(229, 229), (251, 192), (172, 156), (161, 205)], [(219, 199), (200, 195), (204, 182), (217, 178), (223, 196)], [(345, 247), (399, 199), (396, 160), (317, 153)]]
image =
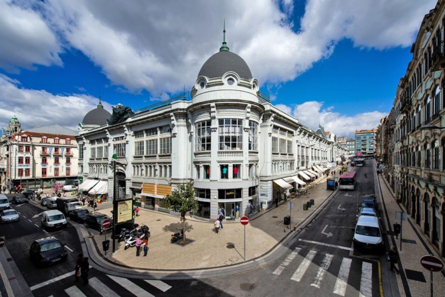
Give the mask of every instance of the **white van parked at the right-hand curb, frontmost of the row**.
[(366, 248), (384, 251), (382, 227), (379, 218), (373, 216), (360, 216), (355, 225), (354, 248)]

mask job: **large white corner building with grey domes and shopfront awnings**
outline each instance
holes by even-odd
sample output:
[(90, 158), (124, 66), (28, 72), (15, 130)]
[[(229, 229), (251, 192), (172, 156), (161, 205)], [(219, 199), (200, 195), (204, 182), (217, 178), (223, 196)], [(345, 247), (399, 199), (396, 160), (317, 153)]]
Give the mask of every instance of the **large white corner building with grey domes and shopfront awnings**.
[(169, 212), (164, 197), (193, 182), (195, 217), (215, 220), (222, 207), (226, 220), (237, 220), (271, 207), (346, 154), (274, 107), (225, 37), (199, 70), (190, 96), (136, 111), (119, 124), (90, 122), (88, 113), (77, 136), (80, 188), (94, 195), (95, 187), (105, 187), (112, 199), (115, 152), (118, 198)]

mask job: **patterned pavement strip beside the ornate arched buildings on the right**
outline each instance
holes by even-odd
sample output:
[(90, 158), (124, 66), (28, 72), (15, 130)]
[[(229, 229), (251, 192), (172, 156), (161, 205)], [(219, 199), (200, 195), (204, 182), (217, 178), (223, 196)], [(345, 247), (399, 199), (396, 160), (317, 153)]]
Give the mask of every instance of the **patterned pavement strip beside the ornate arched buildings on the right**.
[[(377, 180), (376, 187), (379, 187), (377, 191), (383, 198), (382, 209), (385, 211), (382, 221), (385, 221), (386, 224), (388, 242), (390, 246), (397, 247), (400, 258), (398, 263), (400, 274), (395, 274), (389, 270), (390, 263), (386, 263), (387, 267), (383, 263), (382, 276), (384, 283), (389, 280), (388, 285), (391, 286), (391, 281), (396, 278), (401, 296), (430, 296), (430, 272), (420, 265), (420, 258), (433, 254), (442, 262), (444, 262), (444, 259), (431, 247), (431, 244), (410, 215), (408, 215), (408, 221), (402, 222), (402, 247), (400, 248), (400, 235), (396, 239), (396, 236), (392, 235), (392, 230), (393, 224), (400, 223), (400, 221), (395, 220), (395, 211), (406, 212), (406, 209), (396, 202), (395, 195), (383, 176), (378, 175)], [(445, 273), (443, 270), (433, 272), (433, 288), (435, 296), (445, 292)]]

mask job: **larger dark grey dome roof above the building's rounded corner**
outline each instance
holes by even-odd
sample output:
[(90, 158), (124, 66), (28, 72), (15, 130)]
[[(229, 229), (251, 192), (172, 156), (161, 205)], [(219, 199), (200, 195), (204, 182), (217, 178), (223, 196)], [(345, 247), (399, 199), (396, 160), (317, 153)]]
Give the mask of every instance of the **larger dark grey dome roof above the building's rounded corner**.
[(199, 70), (198, 76), (221, 77), (228, 71), (236, 72), (241, 78), (253, 78), (246, 61), (229, 51), (220, 51), (211, 56)]

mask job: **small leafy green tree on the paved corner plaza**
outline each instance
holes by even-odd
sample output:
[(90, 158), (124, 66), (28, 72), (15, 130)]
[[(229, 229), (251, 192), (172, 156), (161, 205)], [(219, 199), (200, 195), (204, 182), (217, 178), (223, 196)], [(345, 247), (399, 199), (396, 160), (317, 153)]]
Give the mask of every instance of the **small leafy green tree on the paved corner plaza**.
[(187, 213), (194, 213), (198, 209), (198, 201), (195, 198), (195, 189), (193, 183), (180, 184), (177, 189), (173, 190), (171, 195), (164, 198), (165, 205), (173, 211), (181, 214), (183, 222), (183, 242), (186, 241), (185, 236), (185, 216)]

